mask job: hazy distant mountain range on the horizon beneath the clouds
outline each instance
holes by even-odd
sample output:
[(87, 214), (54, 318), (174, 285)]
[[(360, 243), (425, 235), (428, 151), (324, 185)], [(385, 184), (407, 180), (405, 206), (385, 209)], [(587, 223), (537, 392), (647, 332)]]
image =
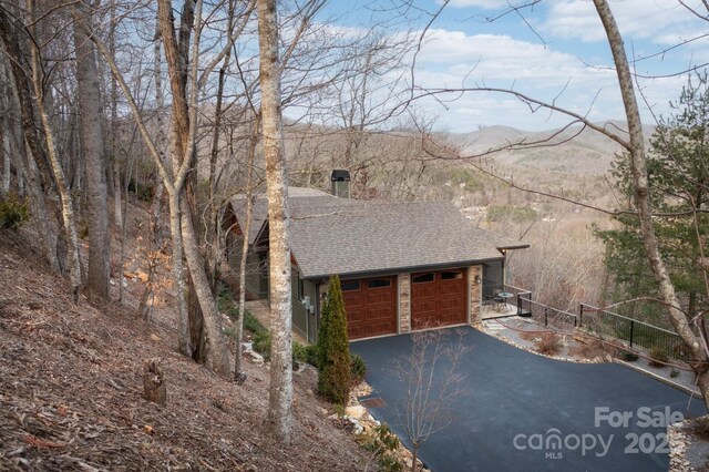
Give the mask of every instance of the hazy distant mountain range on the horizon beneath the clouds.
[[(598, 124), (621, 137), (627, 137), (625, 122)], [(655, 126), (644, 126), (646, 140)], [(450, 140), (463, 153), (479, 155), (517, 144), (514, 150), (493, 153), (490, 160), (506, 167), (533, 167), (564, 174), (603, 175), (607, 173), (616, 153), (623, 151), (615, 141), (590, 129), (527, 132), (510, 126), (489, 126), (465, 134), (451, 134)]]

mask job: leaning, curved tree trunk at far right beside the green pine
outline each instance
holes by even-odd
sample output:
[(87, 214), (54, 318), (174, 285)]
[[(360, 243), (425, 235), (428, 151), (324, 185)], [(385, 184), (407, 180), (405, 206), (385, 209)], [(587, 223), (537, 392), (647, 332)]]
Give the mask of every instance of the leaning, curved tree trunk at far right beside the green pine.
[(667, 306), (669, 311), (670, 322), (675, 327), (675, 330), (682, 339), (685, 345), (689, 348), (692, 356), (691, 367), (698, 376), (698, 386), (701, 390), (701, 394), (705, 404), (709, 408), (709, 361), (707, 352), (700, 339), (691, 330), (687, 317), (680, 309), (680, 302), (677, 298), (675, 286), (672, 285), (669, 273), (659, 252), (657, 237), (655, 234), (655, 226), (653, 225), (653, 213), (650, 207), (648, 177), (647, 177), (647, 162), (645, 155), (645, 140), (643, 135), (643, 123), (640, 122), (640, 113), (635, 96), (635, 89), (633, 86), (633, 75), (628, 65), (628, 58), (625, 53), (625, 47), (623, 44), (623, 38), (618, 25), (615, 21), (610, 7), (606, 0), (594, 0), (598, 17), (603, 22), (606, 35), (608, 38), (608, 44), (613, 53), (613, 59), (616, 66), (616, 73), (618, 75), (618, 84), (620, 86), (620, 94), (623, 96), (623, 103), (625, 105), (626, 120), (628, 122), (629, 132), (629, 151), (630, 151), (630, 164), (633, 170), (633, 183), (635, 186), (635, 205), (638, 208), (638, 216), (640, 219), (640, 233), (643, 236), (643, 244), (647, 259), (650, 264), (653, 275), (657, 280), (660, 298)]

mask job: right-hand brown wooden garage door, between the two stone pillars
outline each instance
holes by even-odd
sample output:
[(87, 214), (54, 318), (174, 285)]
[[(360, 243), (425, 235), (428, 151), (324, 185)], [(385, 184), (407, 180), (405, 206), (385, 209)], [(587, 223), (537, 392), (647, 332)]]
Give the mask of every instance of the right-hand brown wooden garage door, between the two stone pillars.
[(411, 275), (411, 328), (467, 322), (465, 269)]

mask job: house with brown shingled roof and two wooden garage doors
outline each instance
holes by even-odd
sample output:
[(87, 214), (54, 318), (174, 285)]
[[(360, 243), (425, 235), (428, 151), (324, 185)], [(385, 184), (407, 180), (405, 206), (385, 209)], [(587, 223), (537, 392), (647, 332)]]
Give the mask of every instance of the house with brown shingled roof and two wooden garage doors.
[[(333, 173), (333, 193), (349, 195)], [(346, 179), (347, 178), (347, 179)], [(238, 273), (245, 199), (226, 220), (229, 263)], [(484, 298), (504, 285), (505, 252), (528, 247), (475, 227), (445, 202), (369, 202), (289, 187), (292, 326), (315, 342), (322, 299), (340, 277), (350, 339), (480, 322)], [(254, 199), (246, 287), (268, 296), (265, 196)]]

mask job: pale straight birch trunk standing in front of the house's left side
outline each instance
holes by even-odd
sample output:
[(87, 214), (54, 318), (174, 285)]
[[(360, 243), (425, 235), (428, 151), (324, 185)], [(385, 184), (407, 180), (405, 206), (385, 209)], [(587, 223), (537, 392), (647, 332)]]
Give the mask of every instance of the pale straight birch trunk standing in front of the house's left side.
[(258, 0), (261, 121), (269, 232), (270, 391), (268, 421), (276, 439), (290, 444), (292, 425), (291, 299), (288, 189), (280, 109), (276, 1)]

